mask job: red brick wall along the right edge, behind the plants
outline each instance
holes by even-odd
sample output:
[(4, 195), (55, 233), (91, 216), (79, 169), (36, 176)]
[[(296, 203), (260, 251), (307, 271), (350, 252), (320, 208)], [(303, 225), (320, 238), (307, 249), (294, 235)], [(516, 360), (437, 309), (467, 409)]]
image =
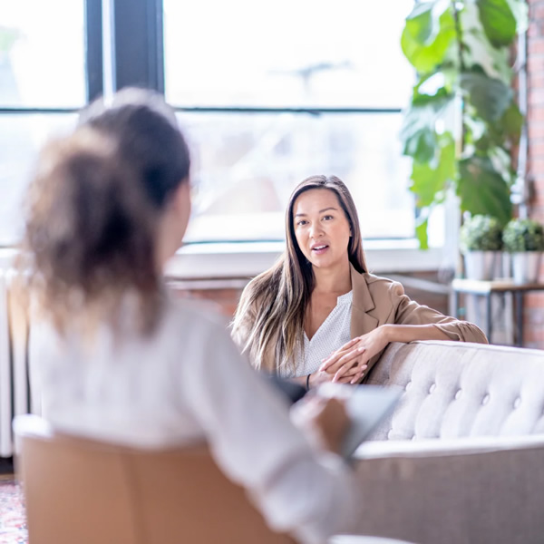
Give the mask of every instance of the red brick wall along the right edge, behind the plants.
[[(528, 179), (533, 184), (529, 215), (544, 222), (544, 0), (529, 0), (527, 50)], [(540, 277), (544, 277), (544, 265)], [(544, 294), (526, 296), (524, 311), (524, 345), (544, 349)]]

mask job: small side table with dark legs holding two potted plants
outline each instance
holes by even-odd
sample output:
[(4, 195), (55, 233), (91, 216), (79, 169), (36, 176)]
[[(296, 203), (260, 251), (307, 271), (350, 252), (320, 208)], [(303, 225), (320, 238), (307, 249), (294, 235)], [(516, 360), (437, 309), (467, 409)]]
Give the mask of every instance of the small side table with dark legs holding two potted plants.
[(516, 284), (513, 279), (494, 279), (483, 281), (477, 279), (455, 278), (452, 281), (453, 290), (453, 312), (454, 316), (459, 317), (459, 295), (484, 296), (485, 297), (485, 334), (491, 340), (492, 322), (491, 322), (491, 294), (493, 293), (512, 293), (515, 299), (515, 345), (523, 344), (523, 295), (530, 291), (544, 291), (544, 284)]

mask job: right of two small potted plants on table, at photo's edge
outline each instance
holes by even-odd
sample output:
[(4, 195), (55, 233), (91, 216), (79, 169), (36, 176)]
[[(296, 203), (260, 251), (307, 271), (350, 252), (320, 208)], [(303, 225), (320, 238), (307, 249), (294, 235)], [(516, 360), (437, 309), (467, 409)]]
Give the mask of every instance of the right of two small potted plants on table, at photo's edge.
[(512, 271), (516, 283), (537, 283), (544, 228), (535, 219), (511, 219), (502, 232), (502, 243), (511, 254)]

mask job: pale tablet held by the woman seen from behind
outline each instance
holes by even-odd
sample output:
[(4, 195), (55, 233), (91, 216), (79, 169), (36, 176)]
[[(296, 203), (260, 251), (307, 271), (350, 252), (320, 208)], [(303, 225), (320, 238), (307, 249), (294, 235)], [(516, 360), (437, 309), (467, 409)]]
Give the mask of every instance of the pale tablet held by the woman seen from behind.
[(394, 385), (343, 385), (322, 384), (318, 393), (325, 397), (345, 399), (345, 408), (352, 424), (345, 435), (341, 455), (352, 457), (378, 423), (393, 412), (399, 402), (403, 388)]

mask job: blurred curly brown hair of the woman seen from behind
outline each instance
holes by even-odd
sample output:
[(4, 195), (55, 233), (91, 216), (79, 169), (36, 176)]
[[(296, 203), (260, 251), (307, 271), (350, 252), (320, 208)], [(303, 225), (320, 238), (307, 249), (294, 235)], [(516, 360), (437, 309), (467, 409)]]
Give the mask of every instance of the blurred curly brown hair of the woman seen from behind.
[(18, 266), (59, 332), (115, 325), (131, 304), (136, 325), (151, 333), (162, 299), (159, 219), (188, 177), (189, 151), (174, 113), (143, 90), (93, 103), (72, 134), (44, 147)]

